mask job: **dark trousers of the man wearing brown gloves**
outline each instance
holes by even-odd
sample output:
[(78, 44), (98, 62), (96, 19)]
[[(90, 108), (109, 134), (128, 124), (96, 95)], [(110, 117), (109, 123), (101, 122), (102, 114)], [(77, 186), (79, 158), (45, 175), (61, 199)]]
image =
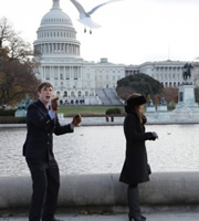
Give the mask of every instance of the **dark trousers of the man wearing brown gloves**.
[(60, 171), (56, 161), (28, 159), (31, 171), (33, 193), (29, 221), (54, 221), (60, 189)]

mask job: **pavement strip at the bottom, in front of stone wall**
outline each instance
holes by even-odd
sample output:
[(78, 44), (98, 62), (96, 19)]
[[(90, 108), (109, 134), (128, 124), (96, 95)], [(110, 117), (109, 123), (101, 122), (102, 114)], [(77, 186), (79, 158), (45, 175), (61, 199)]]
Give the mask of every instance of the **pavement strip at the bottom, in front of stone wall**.
[[(144, 213), (147, 221), (198, 221), (199, 212), (154, 212)], [(56, 219), (63, 221), (128, 221), (127, 214), (57, 214)], [(28, 221), (27, 217), (4, 217), (0, 221)]]

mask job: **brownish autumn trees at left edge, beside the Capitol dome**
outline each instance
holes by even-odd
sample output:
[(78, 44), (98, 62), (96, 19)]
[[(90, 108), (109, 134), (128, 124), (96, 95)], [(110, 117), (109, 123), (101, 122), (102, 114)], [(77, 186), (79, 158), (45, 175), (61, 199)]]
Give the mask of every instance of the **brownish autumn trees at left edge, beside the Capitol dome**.
[(17, 105), (27, 94), (35, 99), (38, 63), (33, 50), (10, 22), (0, 20), (0, 106)]

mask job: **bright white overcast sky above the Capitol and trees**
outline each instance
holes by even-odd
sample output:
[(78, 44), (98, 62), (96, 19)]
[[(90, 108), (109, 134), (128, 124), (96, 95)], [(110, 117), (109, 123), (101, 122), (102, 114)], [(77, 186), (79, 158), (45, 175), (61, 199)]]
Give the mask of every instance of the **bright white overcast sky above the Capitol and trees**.
[[(32, 43), (52, 0), (0, 0), (6, 17)], [(106, 0), (78, 0), (90, 11)], [(70, 0), (60, 0), (71, 18), (86, 61), (140, 64), (147, 61), (196, 61), (199, 56), (199, 0), (122, 0), (92, 14), (102, 28), (84, 33), (78, 12)]]

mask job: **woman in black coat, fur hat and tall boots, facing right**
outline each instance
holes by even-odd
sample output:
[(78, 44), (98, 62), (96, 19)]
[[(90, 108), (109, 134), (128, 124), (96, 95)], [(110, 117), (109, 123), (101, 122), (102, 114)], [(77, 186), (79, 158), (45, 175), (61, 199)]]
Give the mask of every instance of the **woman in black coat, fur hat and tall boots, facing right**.
[(125, 106), (124, 134), (126, 138), (126, 158), (119, 181), (128, 185), (127, 199), (129, 221), (145, 221), (139, 207), (138, 183), (149, 181), (150, 168), (147, 161), (145, 140), (155, 140), (156, 133), (145, 133), (146, 98), (137, 93), (130, 95)]

